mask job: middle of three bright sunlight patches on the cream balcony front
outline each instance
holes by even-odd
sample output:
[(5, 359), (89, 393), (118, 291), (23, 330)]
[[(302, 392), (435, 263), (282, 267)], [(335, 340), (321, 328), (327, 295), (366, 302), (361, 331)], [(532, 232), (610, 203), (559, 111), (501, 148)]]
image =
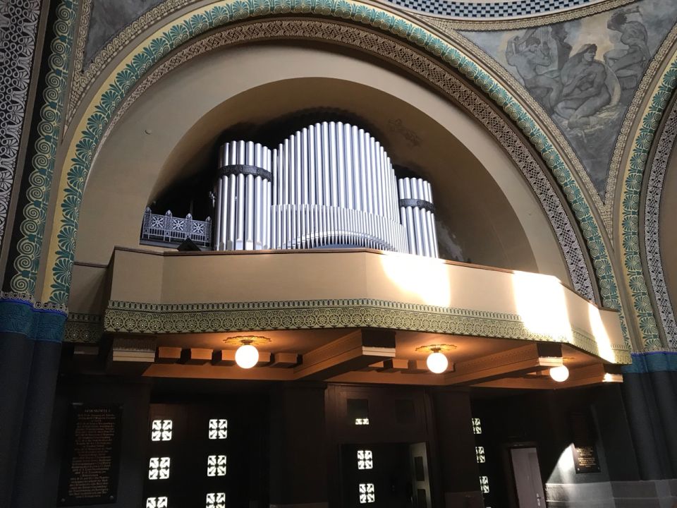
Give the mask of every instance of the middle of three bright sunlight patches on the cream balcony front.
[(564, 288), (550, 275), (515, 272), (513, 294), (517, 313), (530, 332), (572, 341)]

